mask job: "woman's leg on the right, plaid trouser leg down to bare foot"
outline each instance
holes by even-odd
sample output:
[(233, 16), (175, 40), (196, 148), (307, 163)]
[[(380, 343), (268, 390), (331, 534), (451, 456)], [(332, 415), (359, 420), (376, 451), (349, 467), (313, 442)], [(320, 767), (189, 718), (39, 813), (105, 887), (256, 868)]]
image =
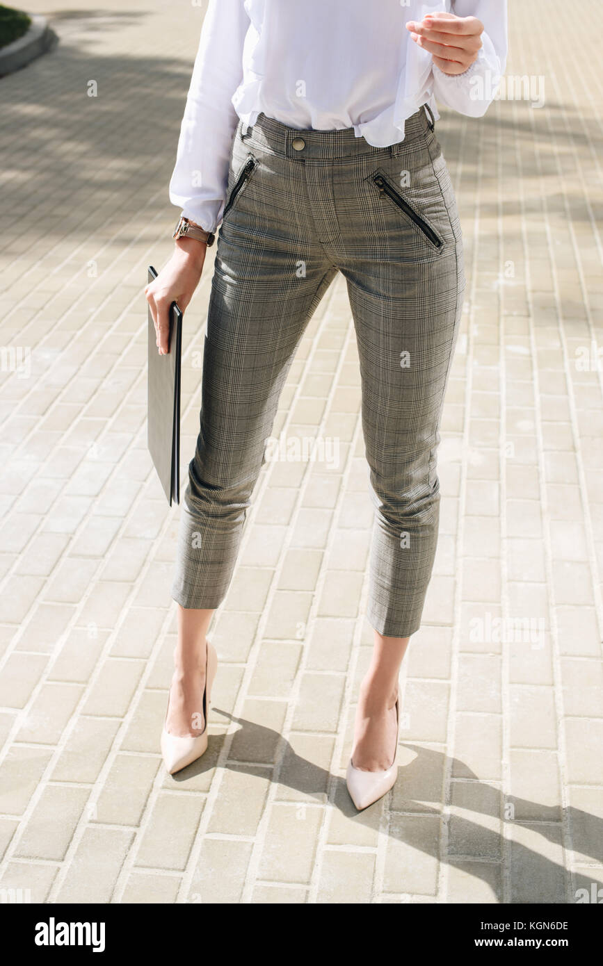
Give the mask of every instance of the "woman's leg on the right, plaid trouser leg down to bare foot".
[(370, 171), (362, 180), (366, 241), (342, 266), (357, 329), (376, 510), (367, 612), (375, 649), (360, 688), (353, 754), (355, 766), (368, 771), (391, 764), (398, 672), (433, 568), (436, 450), (465, 287), (454, 194), (435, 136), (425, 131), (397, 152), (380, 157), (377, 174), (441, 243), (376, 190)]

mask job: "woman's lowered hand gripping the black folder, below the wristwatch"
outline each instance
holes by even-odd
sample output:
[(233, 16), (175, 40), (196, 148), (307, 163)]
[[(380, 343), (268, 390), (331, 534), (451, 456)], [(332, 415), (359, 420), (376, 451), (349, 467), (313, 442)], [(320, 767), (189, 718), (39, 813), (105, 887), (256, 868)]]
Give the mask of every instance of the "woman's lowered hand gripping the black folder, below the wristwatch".
[(157, 335), (159, 355), (169, 352), (169, 310), (173, 301), (182, 312), (199, 284), (207, 245), (196, 239), (178, 239), (174, 254), (157, 278), (145, 287)]

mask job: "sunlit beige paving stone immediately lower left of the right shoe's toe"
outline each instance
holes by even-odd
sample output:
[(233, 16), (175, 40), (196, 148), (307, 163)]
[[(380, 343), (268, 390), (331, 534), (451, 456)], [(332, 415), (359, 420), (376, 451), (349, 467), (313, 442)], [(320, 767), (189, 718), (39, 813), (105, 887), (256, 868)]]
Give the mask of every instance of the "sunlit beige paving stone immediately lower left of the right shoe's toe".
[(260, 862), (262, 879), (310, 881), (323, 815), (323, 809), (318, 806), (273, 805)]

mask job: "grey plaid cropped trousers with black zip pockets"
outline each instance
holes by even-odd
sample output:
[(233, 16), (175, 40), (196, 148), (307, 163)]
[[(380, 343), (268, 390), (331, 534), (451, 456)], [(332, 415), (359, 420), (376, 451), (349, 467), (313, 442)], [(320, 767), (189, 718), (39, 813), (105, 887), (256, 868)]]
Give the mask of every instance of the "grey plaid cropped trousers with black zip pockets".
[(436, 450), (465, 288), (456, 202), (433, 127), (421, 109), (403, 141), (375, 148), (353, 128), (295, 130), (260, 114), (243, 135), (239, 123), (172, 586), (183, 607), (214, 609), (226, 594), (289, 366), (341, 271), (375, 505), (366, 616), (389, 637), (418, 628), (436, 551)]

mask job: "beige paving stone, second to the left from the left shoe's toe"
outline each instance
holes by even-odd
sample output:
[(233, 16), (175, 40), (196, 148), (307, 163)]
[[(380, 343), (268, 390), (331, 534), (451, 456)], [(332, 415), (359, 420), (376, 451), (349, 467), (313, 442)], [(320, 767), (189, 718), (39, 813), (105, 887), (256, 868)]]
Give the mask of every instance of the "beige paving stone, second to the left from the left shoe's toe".
[(52, 771), (52, 781), (96, 781), (119, 724), (111, 718), (85, 718), (81, 715), (76, 718)]

